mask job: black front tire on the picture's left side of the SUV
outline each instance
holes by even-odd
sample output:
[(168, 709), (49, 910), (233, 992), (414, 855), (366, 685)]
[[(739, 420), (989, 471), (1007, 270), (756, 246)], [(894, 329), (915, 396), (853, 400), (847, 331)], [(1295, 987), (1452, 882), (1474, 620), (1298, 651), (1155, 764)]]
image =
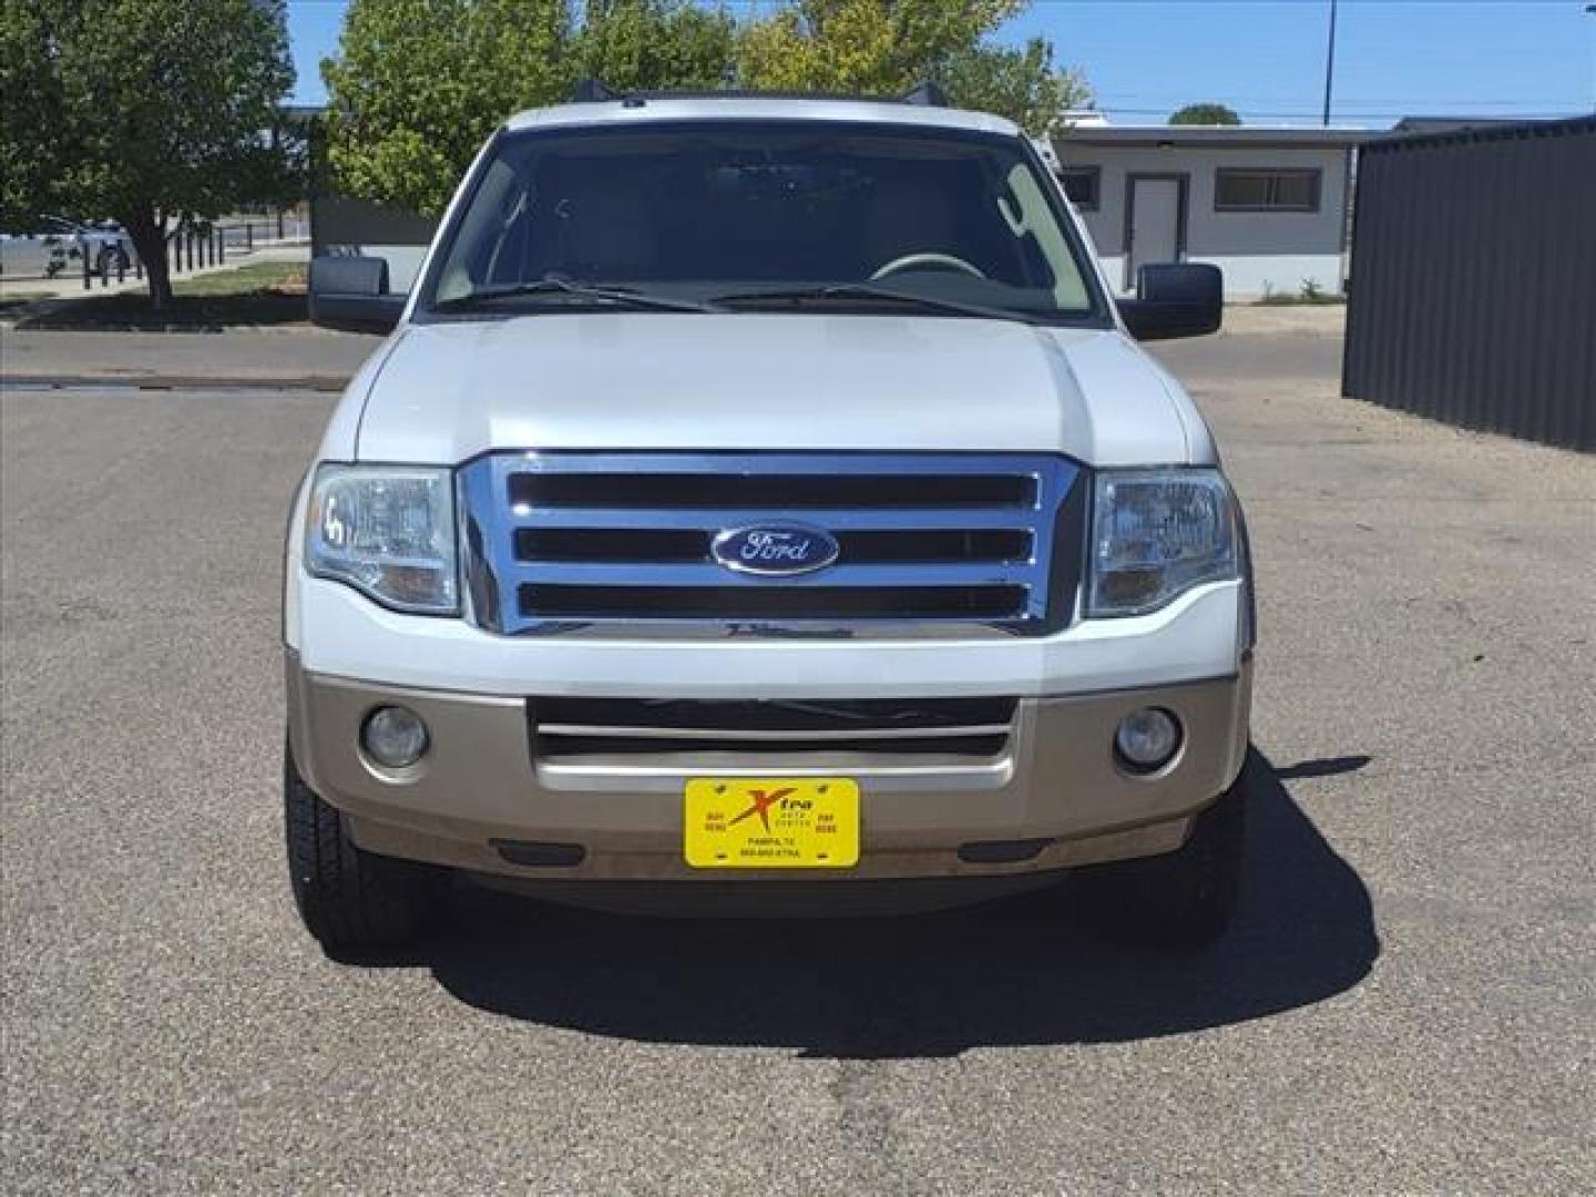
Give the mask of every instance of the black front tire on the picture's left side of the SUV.
[(358, 847), (345, 817), (300, 777), (290, 750), (282, 825), (294, 905), (329, 956), (401, 946), (425, 929), (442, 897), (439, 870)]

